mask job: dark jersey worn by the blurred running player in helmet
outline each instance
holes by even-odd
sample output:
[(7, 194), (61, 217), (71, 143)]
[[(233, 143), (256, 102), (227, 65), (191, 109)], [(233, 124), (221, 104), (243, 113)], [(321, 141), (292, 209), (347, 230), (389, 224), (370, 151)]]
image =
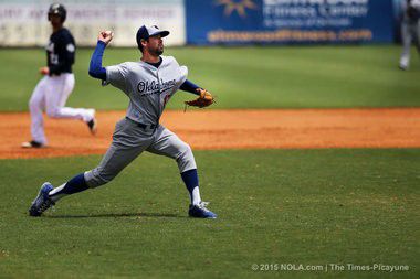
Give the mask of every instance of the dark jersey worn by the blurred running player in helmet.
[(63, 28), (52, 33), (46, 45), (46, 60), (50, 75), (72, 73), (75, 50), (74, 37), (67, 29)]

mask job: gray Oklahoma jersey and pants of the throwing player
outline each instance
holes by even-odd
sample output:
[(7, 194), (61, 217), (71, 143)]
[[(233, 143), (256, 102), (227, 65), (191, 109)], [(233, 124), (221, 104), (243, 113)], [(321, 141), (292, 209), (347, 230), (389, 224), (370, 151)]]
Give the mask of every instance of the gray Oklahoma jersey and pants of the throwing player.
[(126, 118), (115, 126), (113, 142), (99, 165), (85, 172), (88, 186), (113, 180), (143, 151), (172, 158), (180, 172), (197, 169), (191, 148), (159, 125), (169, 98), (187, 79), (187, 67), (171, 56), (161, 56), (158, 68), (145, 62), (126, 62), (106, 67), (106, 84), (129, 98)]

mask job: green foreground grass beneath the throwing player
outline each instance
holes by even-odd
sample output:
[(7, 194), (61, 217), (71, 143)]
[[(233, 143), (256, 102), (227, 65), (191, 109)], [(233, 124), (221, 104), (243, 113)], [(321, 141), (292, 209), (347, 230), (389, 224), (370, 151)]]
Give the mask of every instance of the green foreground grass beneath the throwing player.
[[(186, 217), (176, 164), (144, 154), (108, 185), (27, 216), (39, 185), (99, 157), (1, 160), (0, 277), (418, 278), (420, 150), (198, 151), (216, 221)], [(227, 167), (229, 165), (229, 168)], [(410, 271), (252, 271), (252, 264)]]

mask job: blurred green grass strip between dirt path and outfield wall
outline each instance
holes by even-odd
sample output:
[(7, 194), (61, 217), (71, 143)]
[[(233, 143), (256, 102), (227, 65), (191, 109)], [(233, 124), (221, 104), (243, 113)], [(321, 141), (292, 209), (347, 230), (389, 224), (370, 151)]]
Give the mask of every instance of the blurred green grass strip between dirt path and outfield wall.
[[(189, 67), (189, 78), (218, 96), (214, 108), (420, 106), (420, 63), (412, 51), (409, 72), (397, 68), (400, 46), (284, 46), (168, 49)], [(78, 50), (76, 87), (70, 106), (125, 109), (128, 99), (87, 75), (92, 50)], [(104, 65), (137, 61), (135, 49), (109, 49)], [(43, 50), (0, 50), (0, 110), (27, 110), (45, 63)], [(178, 93), (169, 103), (181, 109), (192, 98)]]

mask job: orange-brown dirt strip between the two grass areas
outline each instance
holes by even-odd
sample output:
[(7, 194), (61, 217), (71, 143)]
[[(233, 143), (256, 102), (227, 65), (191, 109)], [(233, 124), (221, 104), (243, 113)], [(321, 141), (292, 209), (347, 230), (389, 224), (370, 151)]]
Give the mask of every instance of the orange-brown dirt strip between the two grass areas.
[[(0, 114), (0, 158), (103, 154), (124, 116), (98, 112), (95, 137), (82, 121), (45, 118), (49, 147), (28, 150), (29, 114)], [(161, 122), (195, 150), (420, 148), (420, 108), (168, 110)]]

